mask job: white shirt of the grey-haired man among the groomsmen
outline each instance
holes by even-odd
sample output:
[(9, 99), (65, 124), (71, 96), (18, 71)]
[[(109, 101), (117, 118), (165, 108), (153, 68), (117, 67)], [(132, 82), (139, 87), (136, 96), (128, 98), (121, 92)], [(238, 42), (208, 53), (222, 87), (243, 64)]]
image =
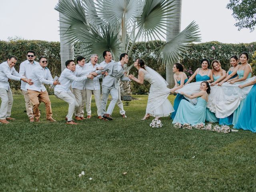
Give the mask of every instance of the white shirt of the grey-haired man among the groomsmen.
[[(99, 64), (95, 64), (94, 66), (91, 64), (91, 62), (84, 64), (86, 70), (95, 69), (96, 67), (100, 67)], [(102, 75), (98, 75), (94, 77), (93, 79), (86, 79), (84, 81), (84, 87), (89, 90), (100, 90), (100, 78), (102, 78)]]

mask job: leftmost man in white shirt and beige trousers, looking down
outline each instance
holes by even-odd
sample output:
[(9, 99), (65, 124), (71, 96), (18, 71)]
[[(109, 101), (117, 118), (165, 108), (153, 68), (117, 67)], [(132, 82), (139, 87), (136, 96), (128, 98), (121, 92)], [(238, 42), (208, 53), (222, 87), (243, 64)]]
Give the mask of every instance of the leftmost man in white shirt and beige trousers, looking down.
[(1, 107), (0, 107), (0, 123), (8, 124), (7, 120), (15, 120), (11, 118), (11, 110), (12, 110), (12, 90), (10, 88), (10, 84), (8, 82), (9, 79), (16, 81), (24, 81), (30, 83), (30, 79), (19, 74), (14, 65), (17, 62), (16, 56), (10, 56), (6, 62), (2, 62), (0, 64), (0, 97), (1, 97)]

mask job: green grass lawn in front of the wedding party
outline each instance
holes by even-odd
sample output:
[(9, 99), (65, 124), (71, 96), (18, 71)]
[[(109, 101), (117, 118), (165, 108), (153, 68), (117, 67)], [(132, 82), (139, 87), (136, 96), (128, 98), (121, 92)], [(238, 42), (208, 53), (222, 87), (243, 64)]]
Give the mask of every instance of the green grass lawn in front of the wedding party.
[(29, 123), (14, 95), (16, 120), (0, 124), (0, 191), (256, 191), (256, 134), (176, 129), (170, 118), (151, 128), (153, 118), (140, 120), (147, 96), (134, 97), (126, 119), (117, 106), (113, 121), (96, 119), (92, 100), (92, 118), (70, 126), (55, 96), (57, 122), (46, 122), (42, 103), (41, 122)]

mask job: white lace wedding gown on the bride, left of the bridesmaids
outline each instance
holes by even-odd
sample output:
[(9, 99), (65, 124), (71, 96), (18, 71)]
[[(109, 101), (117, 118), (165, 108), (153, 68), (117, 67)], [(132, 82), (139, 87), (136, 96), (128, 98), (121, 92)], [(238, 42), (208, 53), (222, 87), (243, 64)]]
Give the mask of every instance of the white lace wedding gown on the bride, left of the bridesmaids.
[(158, 118), (169, 116), (170, 113), (174, 112), (174, 108), (168, 100), (170, 89), (166, 87), (167, 82), (149, 67), (146, 67), (146, 70), (140, 70), (144, 72), (144, 80), (151, 84), (146, 114)]

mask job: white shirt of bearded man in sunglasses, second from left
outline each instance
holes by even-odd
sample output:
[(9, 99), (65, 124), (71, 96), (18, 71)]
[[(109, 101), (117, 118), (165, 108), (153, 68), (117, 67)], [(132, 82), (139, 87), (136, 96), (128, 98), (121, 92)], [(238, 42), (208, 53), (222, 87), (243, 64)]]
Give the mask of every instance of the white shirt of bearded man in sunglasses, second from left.
[[(40, 66), (40, 64), (37, 61), (34, 61), (33, 64), (31, 64), (29, 60), (26, 60), (20, 64), (19, 74), (30, 79), (30, 75), (32, 74), (33, 68), (36, 66)], [(20, 85), (20, 89), (27, 91), (26, 84), (28, 83), (22, 81)]]

